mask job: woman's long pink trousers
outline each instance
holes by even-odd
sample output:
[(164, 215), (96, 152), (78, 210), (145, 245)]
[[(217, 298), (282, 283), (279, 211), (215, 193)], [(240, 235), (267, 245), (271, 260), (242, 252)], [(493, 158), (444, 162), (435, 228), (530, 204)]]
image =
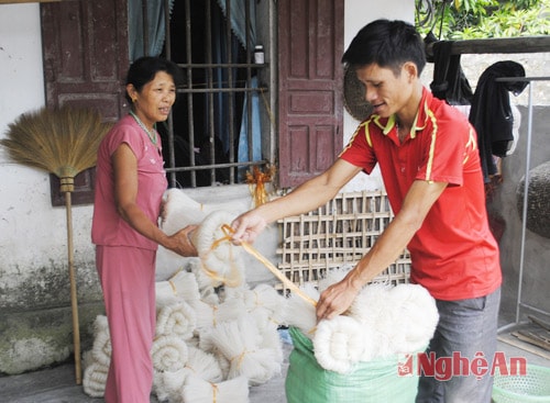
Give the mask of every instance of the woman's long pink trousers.
[(155, 255), (154, 250), (127, 246), (96, 247), (112, 346), (107, 403), (150, 402), (156, 323)]

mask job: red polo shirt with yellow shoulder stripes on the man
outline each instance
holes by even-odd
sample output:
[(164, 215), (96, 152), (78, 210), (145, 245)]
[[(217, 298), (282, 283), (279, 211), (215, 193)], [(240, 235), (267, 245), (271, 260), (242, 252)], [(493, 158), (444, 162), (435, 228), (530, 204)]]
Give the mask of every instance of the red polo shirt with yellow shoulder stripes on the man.
[(395, 116), (362, 122), (340, 158), (371, 173), (380, 165), (395, 214), (413, 181), (447, 182), (407, 248), (413, 282), (436, 299), (486, 295), (502, 282), (498, 246), (488, 227), (477, 141), (468, 119), (422, 91), (415, 124), (403, 144)]

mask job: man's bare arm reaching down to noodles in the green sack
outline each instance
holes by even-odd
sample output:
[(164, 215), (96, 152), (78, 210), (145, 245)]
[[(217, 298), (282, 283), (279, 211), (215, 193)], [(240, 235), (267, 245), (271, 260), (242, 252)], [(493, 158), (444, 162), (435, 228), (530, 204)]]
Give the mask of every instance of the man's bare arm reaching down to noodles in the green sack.
[(447, 184), (426, 180), (413, 182), (399, 213), (371, 250), (342, 281), (332, 284), (321, 294), (317, 304), (318, 320), (332, 318), (345, 312), (363, 286), (399, 257)]

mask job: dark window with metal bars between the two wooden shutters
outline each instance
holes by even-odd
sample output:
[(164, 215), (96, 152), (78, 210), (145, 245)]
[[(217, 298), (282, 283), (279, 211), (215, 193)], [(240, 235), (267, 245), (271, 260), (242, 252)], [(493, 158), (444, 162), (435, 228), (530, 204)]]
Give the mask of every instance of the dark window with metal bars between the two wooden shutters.
[[(170, 117), (157, 125), (170, 187), (239, 183), (267, 163), (260, 119), (267, 88), (258, 80), (266, 65), (254, 63), (255, 1), (164, 0), (169, 11), (160, 56), (185, 76)], [(142, 5), (145, 27), (147, 0)]]

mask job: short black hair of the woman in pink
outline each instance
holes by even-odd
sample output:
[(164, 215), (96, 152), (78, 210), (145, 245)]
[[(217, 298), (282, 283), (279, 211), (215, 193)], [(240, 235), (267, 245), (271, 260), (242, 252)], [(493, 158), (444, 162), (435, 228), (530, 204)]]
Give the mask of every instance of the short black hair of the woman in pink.
[[(140, 92), (143, 86), (153, 81), (158, 71), (170, 75), (176, 87), (184, 82), (182, 69), (174, 61), (161, 57), (143, 56), (130, 66), (127, 75), (127, 86), (131, 83)], [(128, 93), (127, 100), (132, 102)]]

